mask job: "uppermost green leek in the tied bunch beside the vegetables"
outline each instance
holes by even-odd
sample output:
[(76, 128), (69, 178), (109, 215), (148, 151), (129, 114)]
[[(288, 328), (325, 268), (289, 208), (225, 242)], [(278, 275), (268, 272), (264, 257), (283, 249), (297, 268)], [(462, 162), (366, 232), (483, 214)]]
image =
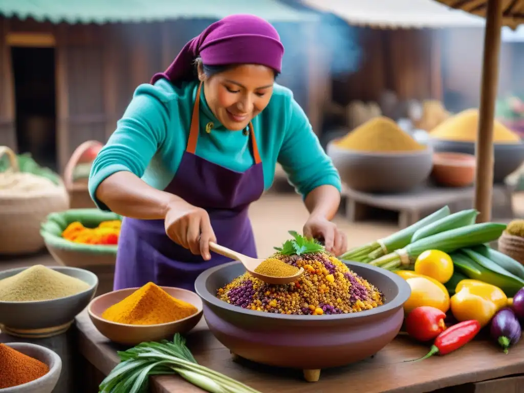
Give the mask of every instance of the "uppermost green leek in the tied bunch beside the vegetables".
[(360, 247), (349, 250), (344, 255), (340, 256), (339, 259), (354, 260), (357, 262), (364, 262), (366, 259), (376, 259), (387, 253), (394, 252), (395, 250), (406, 247), (411, 242), (411, 237), (417, 230), (424, 226), (438, 221), (446, 216), (450, 215), (450, 208), (446, 205), (442, 209), (430, 214), (420, 221), (398, 231), (388, 237), (379, 239), (375, 242), (365, 244)]

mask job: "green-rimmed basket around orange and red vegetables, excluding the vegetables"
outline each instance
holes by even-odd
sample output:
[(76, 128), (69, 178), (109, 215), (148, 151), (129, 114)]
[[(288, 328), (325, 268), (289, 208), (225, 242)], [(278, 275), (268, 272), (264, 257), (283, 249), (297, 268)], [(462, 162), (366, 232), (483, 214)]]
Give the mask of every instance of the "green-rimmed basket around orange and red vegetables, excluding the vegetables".
[(111, 220), (122, 220), (122, 217), (97, 209), (70, 209), (49, 214), (40, 230), (49, 253), (59, 264), (89, 270), (99, 278), (96, 296), (113, 290), (117, 246), (73, 243), (64, 239), (62, 232), (75, 221), (96, 227), (102, 221)]

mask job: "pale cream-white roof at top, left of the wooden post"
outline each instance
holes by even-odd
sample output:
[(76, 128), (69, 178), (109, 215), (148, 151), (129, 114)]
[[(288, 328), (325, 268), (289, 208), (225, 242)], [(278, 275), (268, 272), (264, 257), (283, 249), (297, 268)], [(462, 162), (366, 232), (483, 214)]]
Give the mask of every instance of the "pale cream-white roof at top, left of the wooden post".
[(481, 17), (451, 9), (433, 0), (301, 0), (352, 25), (379, 28), (485, 26)]

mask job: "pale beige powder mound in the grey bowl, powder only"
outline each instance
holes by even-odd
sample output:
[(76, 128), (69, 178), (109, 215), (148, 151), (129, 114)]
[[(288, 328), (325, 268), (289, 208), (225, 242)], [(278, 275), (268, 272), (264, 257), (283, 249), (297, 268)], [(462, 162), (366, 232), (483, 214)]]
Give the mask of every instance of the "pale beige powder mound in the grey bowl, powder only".
[(0, 301), (24, 302), (59, 299), (83, 292), (89, 284), (42, 265), (0, 280)]

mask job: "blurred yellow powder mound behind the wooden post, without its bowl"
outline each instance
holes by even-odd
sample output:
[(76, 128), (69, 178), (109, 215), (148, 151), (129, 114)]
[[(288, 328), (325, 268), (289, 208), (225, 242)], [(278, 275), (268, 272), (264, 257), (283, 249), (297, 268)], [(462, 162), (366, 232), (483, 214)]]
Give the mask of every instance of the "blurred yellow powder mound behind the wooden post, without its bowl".
[[(468, 109), (447, 118), (433, 128), (430, 136), (435, 139), (474, 142), (477, 140), (478, 110)], [(520, 137), (502, 123), (493, 123), (493, 141), (495, 143), (519, 143)]]

